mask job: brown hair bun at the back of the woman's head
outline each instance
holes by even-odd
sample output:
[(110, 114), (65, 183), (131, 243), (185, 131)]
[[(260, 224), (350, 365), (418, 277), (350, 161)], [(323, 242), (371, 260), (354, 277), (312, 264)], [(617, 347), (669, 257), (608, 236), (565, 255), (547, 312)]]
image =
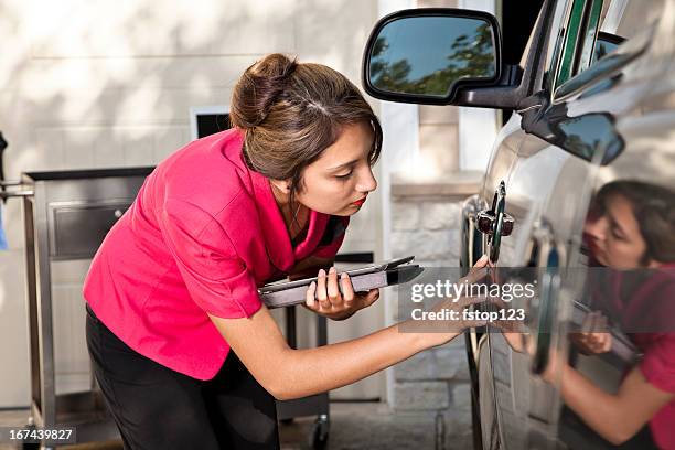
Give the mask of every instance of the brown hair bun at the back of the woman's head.
[(296, 58), (281, 53), (269, 54), (249, 66), (232, 95), (232, 124), (242, 129), (260, 125), (297, 66)]

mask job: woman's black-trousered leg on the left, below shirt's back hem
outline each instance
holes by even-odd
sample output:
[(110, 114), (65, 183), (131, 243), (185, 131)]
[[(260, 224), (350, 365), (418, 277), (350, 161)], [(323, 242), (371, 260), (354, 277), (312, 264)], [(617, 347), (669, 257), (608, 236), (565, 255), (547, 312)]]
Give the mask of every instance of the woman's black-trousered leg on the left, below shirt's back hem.
[(204, 382), (128, 347), (87, 307), (94, 374), (125, 449), (218, 449), (202, 397)]

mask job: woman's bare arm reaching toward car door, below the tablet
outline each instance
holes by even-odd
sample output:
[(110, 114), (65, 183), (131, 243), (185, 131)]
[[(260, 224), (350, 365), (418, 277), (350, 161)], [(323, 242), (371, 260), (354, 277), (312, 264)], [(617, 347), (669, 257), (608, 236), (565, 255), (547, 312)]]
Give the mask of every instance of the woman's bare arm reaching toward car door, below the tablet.
[(293, 350), (265, 307), (250, 318), (211, 319), (258, 383), (281, 400), (345, 386), (458, 334), (399, 332), (393, 325), (339, 344)]

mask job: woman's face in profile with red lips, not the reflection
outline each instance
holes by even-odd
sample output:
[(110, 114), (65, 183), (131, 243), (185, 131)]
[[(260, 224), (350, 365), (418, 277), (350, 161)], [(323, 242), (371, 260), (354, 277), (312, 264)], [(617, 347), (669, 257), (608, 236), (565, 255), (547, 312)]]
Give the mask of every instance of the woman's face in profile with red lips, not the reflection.
[(296, 199), (324, 214), (356, 213), (366, 195), (377, 188), (368, 162), (373, 139), (369, 124), (345, 125), (338, 140), (304, 168), (302, 189)]

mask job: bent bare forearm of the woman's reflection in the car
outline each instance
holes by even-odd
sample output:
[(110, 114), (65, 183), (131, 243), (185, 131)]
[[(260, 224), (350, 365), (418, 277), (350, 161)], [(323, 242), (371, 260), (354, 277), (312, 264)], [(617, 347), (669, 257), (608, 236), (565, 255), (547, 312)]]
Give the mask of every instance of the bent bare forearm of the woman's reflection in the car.
[[(549, 381), (555, 375), (550, 374)], [(562, 399), (583, 421), (618, 446), (632, 438), (675, 394), (650, 384), (639, 367), (628, 374), (617, 394), (608, 394), (567, 364), (561, 366)]]

